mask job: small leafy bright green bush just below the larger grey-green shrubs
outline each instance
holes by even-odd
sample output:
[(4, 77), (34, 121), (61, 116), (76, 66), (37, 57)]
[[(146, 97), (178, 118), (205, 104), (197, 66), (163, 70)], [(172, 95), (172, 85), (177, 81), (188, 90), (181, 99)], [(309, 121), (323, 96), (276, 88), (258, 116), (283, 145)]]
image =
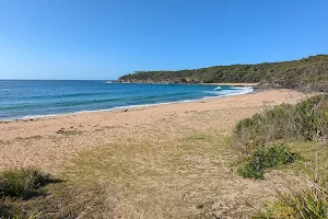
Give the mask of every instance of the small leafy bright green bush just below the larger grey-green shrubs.
[(245, 159), (238, 169), (243, 177), (262, 178), (266, 169), (276, 168), (281, 164), (292, 163), (295, 154), (289, 151), (284, 145), (270, 147), (257, 147), (253, 153)]

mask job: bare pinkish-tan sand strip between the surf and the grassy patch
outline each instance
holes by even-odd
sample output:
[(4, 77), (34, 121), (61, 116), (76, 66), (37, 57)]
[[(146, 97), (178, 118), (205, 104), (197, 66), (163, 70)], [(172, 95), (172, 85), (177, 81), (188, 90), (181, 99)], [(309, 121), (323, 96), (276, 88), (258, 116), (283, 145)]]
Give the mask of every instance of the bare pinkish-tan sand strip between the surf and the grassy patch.
[(269, 90), (187, 103), (0, 122), (0, 170), (37, 166), (57, 171), (79, 151), (108, 143), (168, 140), (208, 129), (229, 134), (237, 120), (265, 105), (296, 102), (304, 96), (296, 91)]

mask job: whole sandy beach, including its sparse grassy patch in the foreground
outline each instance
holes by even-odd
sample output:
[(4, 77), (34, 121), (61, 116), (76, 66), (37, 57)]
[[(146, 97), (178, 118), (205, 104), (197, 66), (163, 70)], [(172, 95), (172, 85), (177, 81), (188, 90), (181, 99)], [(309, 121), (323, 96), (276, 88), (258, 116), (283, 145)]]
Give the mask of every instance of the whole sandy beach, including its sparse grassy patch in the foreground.
[(267, 90), (1, 122), (0, 169), (34, 166), (68, 178), (82, 191), (77, 193), (86, 203), (84, 218), (207, 218), (212, 212), (236, 218), (272, 198), (281, 177), (272, 171), (266, 176), (271, 180), (254, 182), (231, 173), (236, 154), (227, 137), (234, 125), (263, 107), (304, 97)]

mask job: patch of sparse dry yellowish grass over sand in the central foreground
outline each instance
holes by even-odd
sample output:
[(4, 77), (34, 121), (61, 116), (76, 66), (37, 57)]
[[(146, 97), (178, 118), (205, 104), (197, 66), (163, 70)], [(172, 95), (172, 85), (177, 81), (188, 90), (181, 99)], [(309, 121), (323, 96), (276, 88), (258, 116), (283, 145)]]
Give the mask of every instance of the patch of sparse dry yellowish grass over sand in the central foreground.
[(103, 188), (104, 205), (117, 218), (238, 218), (254, 212), (274, 191), (270, 181), (233, 174), (235, 158), (227, 138), (208, 130), (85, 151), (63, 176), (79, 186)]

